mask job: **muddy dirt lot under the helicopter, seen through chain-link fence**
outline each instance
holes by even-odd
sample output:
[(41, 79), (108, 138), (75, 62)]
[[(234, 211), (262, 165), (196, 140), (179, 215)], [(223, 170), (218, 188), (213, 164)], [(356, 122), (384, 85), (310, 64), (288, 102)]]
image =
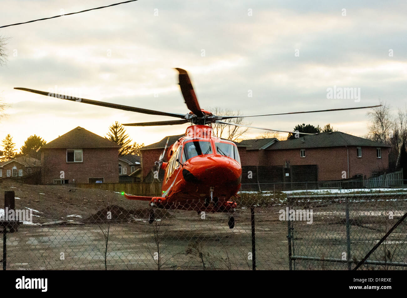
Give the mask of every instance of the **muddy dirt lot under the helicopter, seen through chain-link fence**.
[[(7, 181), (1, 191), (32, 213), (5, 235), (7, 270), (347, 270), (407, 212), (404, 188), (247, 191), (233, 214), (154, 218), (148, 202), (108, 190)], [(406, 237), (403, 220), (359, 269), (404, 269)]]

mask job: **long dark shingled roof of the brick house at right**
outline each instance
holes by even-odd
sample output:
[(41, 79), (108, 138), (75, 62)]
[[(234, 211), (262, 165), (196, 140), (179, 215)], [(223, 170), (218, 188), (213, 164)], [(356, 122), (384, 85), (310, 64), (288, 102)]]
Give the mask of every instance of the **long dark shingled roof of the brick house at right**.
[(321, 132), (319, 134), (300, 136), (300, 138), (293, 140), (276, 142), (269, 146), (267, 150), (338, 146), (390, 147), (389, 145), (345, 134), (344, 132)]

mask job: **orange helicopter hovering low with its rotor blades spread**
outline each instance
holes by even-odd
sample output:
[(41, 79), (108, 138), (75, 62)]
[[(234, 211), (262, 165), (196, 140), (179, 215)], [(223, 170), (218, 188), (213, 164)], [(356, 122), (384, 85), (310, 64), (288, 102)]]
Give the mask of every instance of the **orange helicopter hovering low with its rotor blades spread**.
[[(284, 130), (269, 129), (263, 127), (254, 127), (239, 125), (235, 123), (224, 122), (222, 120), (244, 117), (274, 116), (284, 114), (301, 114), (311, 112), (327, 112), (336, 110), (353, 110), (361, 108), (372, 108), (377, 106), (365, 106), (357, 108), (339, 108), (329, 110), (315, 110), (306, 112), (288, 112), (277, 114), (264, 114), (253, 116), (217, 116), (200, 108), (193, 86), (188, 73), (184, 69), (176, 68), (179, 72), (179, 86), (184, 97), (188, 114), (177, 114), (155, 110), (147, 110), (120, 104), (112, 104), (103, 101), (96, 101), (85, 98), (76, 98), (45, 91), (38, 91), (27, 88), (14, 88), (41, 95), (56, 97), (77, 101), (96, 106), (105, 106), (119, 110), (139, 112), (143, 114), (153, 114), (180, 118), (173, 121), (155, 121), (142, 123), (127, 123), (125, 126), (153, 126), (153, 125), (177, 125), (191, 123), (186, 129), (186, 134), (179, 138), (171, 147), (168, 148), (167, 160), (164, 162), (166, 153), (160, 155), (157, 166), (156, 176), (160, 168), (164, 172), (164, 181), (162, 184), (161, 197), (142, 197), (124, 194), (127, 199), (149, 201), (151, 210), (149, 212), (149, 222), (154, 218), (153, 207), (165, 209), (194, 210), (201, 212), (226, 212), (229, 214), (228, 225), (234, 227), (234, 216), (237, 204), (234, 200), (238, 198), (238, 192), (241, 187), (241, 162), (236, 145), (230, 141), (213, 136), (212, 128), (207, 125), (210, 123), (222, 123), (224, 125), (234, 125), (241, 127), (257, 128), (261, 130), (270, 130), (278, 132), (289, 132)], [(291, 132), (292, 134), (307, 134), (301, 132)]]

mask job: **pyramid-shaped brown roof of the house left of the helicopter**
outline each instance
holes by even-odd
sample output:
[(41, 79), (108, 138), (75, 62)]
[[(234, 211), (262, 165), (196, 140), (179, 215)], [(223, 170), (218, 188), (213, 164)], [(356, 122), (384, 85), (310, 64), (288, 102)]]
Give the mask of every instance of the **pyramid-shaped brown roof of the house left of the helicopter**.
[(120, 148), (120, 146), (78, 126), (41, 147), (41, 149), (50, 148)]

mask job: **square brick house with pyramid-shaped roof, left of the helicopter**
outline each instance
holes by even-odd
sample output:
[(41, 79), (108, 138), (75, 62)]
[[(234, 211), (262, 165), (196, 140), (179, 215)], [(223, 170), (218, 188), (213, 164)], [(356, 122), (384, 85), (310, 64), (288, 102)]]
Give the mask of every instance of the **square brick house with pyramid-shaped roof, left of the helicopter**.
[(78, 126), (40, 148), (42, 183), (118, 182), (119, 148)]

